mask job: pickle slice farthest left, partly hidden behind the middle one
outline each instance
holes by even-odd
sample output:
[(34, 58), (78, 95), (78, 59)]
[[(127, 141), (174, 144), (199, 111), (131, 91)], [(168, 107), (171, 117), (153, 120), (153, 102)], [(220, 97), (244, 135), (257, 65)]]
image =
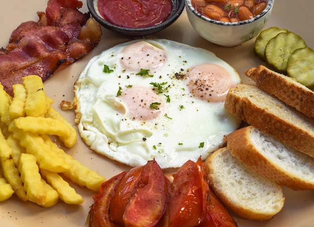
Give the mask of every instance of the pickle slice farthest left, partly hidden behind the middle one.
[(262, 61), (265, 61), (265, 47), (269, 40), (277, 36), (279, 33), (286, 33), (288, 30), (279, 29), (277, 27), (270, 27), (262, 31), (255, 40), (254, 53)]

